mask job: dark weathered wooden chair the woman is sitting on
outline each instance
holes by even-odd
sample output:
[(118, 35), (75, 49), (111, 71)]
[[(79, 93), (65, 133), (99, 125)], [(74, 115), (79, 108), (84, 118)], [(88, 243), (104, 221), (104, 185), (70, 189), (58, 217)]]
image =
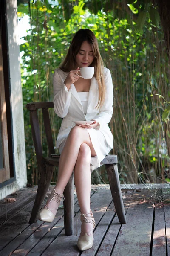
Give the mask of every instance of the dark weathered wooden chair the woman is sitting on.
[[(49, 108), (54, 108), (53, 102), (33, 102), (26, 105), (30, 111), (30, 122), (32, 137), (34, 141), (34, 147), (37, 158), (38, 171), (40, 173), (40, 180), (37, 189), (37, 195), (35, 198), (34, 206), (31, 212), (31, 218), (29, 223), (37, 221), (37, 216), (42, 207), (45, 195), (51, 183), (51, 178), (55, 169), (55, 166), (59, 164), (59, 156), (55, 155), (54, 144), (52, 139)], [(40, 127), (38, 121), (37, 109), (42, 109), (42, 115), (45, 126), (45, 133), (47, 137), (49, 157), (43, 157), (42, 143), (40, 138)], [(122, 200), (122, 193), (120, 189), (119, 174), (117, 168), (117, 156), (108, 155), (102, 160), (101, 164), (105, 164), (108, 180), (111, 188), (111, 194), (113, 202), (116, 208), (116, 213), (120, 223), (126, 223), (125, 209)], [(65, 235), (73, 235), (73, 217), (74, 217), (74, 177), (73, 174), (64, 190), (64, 227)]]

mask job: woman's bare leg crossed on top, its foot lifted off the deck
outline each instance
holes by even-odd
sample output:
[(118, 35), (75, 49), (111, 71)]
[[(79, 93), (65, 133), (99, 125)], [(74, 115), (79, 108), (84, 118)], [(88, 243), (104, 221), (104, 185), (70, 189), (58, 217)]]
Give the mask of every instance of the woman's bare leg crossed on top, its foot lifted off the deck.
[[(96, 155), (88, 131), (82, 127), (74, 126), (70, 131), (59, 160), (59, 173), (57, 185), (55, 186), (55, 190), (59, 194), (63, 193), (71, 177), (82, 143), (86, 143), (89, 146), (92, 156)], [(49, 208), (55, 208), (55, 201), (51, 201), (50, 203), (50, 200), (48, 200), (46, 204)], [(51, 210), (51, 212), (55, 214), (56, 210)]]

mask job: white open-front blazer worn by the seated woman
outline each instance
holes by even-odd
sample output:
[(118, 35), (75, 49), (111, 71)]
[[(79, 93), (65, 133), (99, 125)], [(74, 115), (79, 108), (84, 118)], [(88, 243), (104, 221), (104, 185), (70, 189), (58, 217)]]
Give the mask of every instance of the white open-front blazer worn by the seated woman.
[(102, 105), (100, 109), (95, 108), (99, 99), (98, 82), (95, 77), (91, 79), (86, 115), (83, 112), (82, 103), (79, 99), (74, 84), (71, 84), (69, 91), (64, 84), (67, 75), (67, 72), (56, 69), (53, 77), (54, 111), (57, 116), (63, 118), (61, 128), (57, 136), (57, 148), (59, 148), (59, 145), (62, 143), (65, 137), (68, 136), (71, 128), (75, 125), (72, 121), (94, 119), (100, 124), (94, 129), (100, 130), (103, 133), (111, 150), (111, 148), (113, 148), (113, 135), (108, 123), (111, 121), (113, 114), (113, 84), (110, 70), (104, 68), (106, 98), (104, 105)]

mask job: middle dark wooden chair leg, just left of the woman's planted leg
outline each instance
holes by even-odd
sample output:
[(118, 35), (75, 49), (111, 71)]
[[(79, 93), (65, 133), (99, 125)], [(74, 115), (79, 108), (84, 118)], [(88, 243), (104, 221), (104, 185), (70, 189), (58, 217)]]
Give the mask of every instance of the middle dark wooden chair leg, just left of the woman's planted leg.
[(65, 235), (73, 235), (73, 218), (74, 218), (74, 174), (72, 173), (70, 180), (64, 190), (64, 229)]

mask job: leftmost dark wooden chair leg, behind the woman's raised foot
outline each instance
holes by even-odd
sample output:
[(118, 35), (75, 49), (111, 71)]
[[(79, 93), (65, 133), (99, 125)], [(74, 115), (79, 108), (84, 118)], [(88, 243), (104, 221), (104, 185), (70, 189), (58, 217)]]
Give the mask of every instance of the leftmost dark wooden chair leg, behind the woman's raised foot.
[(40, 209), (45, 199), (45, 195), (50, 186), (54, 169), (55, 169), (55, 166), (44, 164), (44, 169), (41, 170), (40, 180), (39, 180), (38, 189), (37, 189), (37, 195), (34, 201), (34, 206), (32, 208), (31, 217), (29, 220), (30, 224), (37, 221), (37, 216), (40, 212)]

